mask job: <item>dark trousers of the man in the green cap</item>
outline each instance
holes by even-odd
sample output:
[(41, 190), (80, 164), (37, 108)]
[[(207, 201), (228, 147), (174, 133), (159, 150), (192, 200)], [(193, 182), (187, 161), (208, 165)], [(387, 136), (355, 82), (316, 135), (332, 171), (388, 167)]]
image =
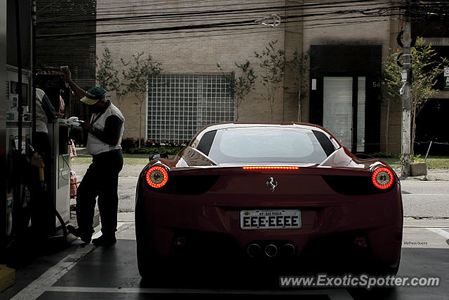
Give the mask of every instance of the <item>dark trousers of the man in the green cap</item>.
[(117, 186), (122, 167), (123, 154), (120, 149), (93, 156), (92, 164), (76, 190), (76, 219), (84, 233), (93, 233), (95, 198), (98, 196), (102, 234), (115, 235), (119, 205)]

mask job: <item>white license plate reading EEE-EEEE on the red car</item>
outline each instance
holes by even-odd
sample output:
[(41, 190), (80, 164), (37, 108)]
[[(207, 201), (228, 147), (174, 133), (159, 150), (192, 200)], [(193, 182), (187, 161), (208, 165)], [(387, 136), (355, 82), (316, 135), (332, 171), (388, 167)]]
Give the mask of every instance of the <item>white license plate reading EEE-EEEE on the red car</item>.
[(300, 210), (242, 210), (241, 229), (298, 229)]

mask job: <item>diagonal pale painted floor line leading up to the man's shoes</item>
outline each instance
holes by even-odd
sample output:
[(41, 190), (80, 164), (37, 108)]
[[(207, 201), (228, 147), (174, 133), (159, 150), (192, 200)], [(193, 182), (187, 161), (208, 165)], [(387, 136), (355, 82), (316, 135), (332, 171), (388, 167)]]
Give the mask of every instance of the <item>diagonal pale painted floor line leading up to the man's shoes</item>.
[[(120, 224), (122, 226), (124, 223)], [(119, 223), (117, 223), (117, 229), (120, 228)], [(99, 232), (101, 233), (101, 232)], [(98, 235), (96, 233), (95, 235)], [(83, 244), (83, 247), (78, 246), (71, 254), (67, 257), (61, 259), (58, 264), (49, 268), (45, 273), (43, 273), (39, 278), (31, 282), (27, 287), (22, 289), (18, 294), (15, 294), (11, 300), (32, 300), (37, 299), (43, 292), (55, 284), (62, 276), (64, 276), (68, 271), (70, 271), (78, 261), (80, 261), (87, 254), (92, 252), (95, 246), (92, 244)]]

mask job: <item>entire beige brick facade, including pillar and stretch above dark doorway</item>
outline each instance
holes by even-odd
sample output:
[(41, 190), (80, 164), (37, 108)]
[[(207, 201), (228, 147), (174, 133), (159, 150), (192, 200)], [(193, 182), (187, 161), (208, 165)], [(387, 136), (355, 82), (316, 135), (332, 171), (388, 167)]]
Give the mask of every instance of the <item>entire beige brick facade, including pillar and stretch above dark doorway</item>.
[[(374, 1), (373, 1), (374, 2)], [(189, 6), (201, 6), (193, 8), (196, 11), (202, 9), (236, 9), (248, 7), (261, 7), (258, 0), (244, 1), (227, 1), (224, 6), (215, 5), (210, 1), (196, 1), (195, 4), (188, 4), (186, 1), (180, 1), (179, 4), (174, 2), (168, 4), (161, 4), (158, 1), (154, 9), (159, 9), (160, 13), (168, 13), (170, 11), (192, 11)], [(266, 6), (289, 6), (302, 3), (316, 3), (316, 1), (307, 0), (286, 0), (286, 1), (272, 1)], [(148, 4), (148, 1), (133, 1), (133, 11), (140, 9), (147, 9), (152, 11), (151, 6), (143, 6)], [(225, 4), (227, 6), (225, 6)], [(250, 5), (252, 4), (252, 5)], [(98, 0), (98, 18), (102, 18), (101, 14), (118, 12), (122, 15), (131, 13), (131, 10), (121, 8), (114, 8), (116, 6), (125, 6), (117, 4), (113, 0)], [(150, 9), (151, 8), (151, 9)], [(351, 6), (356, 8), (356, 6)], [(361, 6), (362, 8), (362, 6)], [(363, 6), (366, 8), (366, 6)], [(306, 11), (304, 11), (305, 13)], [(313, 13), (319, 13), (318, 9), (314, 9)], [(279, 11), (279, 15), (300, 14), (302, 11)], [(311, 13), (311, 10), (307, 10)], [(269, 13), (247, 13), (245, 17), (257, 19), (262, 16), (269, 15)], [(140, 25), (138, 22), (131, 22), (130, 25), (104, 26), (98, 23), (97, 31), (107, 31), (114, 29), (130, 29), (130, 28), (154, 28), (154, 27), (169, 27), (175, 25), (186, 24), (204, 24), (206, 22), (230, 22), (232, 20), (239, 20), (241, 15), (220, 15), (210, 20), (202, 20), (201, 22), (192, 20), (192, 18), (177, 18), (170, 20), (158, 20), (154, 22), (147, 22)], [(210, 74), (220, 73), (217, 68), (217, 63), (220, 63), (225, 72), (230, 72), (233, 69), (237, 71), (234, 62), (245, 62), (250, 60), (255, 69), (256, 74), (262, 71), (258, 66), (257, 59), (254, 56), (254, 51), (261, 52), (269, 41), (277, 40), (276, 46), (286, 51), (286, 57), (289, 60), (293, 52), (297, 49), (299, 51), (309, 50), (311, 45), (382, 45), (382, 61), (387, 60), (389, 47), (394, 45), (396, 47), (396, 34), (398, 32), (398, 22), (394, 21), (395, 17), (391, 17), (389, 21), (383, 22), (369, 22), (361, 24), (351, 24), (347, 26), (329, 25), (326, 22), (336, 22), (335, 20), (319, 20), (324, 24), (320, 27), (310, 27), (316, 23), (314, 18), (304, 18), (304, 22), (288, 22), (283, 23), (281, 27), (263, 27), (259, 25), (253, 26), (253, 29), (240, 30), (222, 30), (217, 29), (192, 29), (194, 33), (177, 32), (177, 33), (163, 33), (163, 34), (142, 34), (135, 36), (114, 36), (97, 38), (97, 55), (100, 56), (105, 47), (111, 51), (116, 66), (120, 68), (119, 60), (123, 57), (124, 60), (130, 60), (133, 53), (145, 52), (151, 53), (156, 62), (160, 62), (165, 74)], [(170, 22), (168, 22), (170, 21)], [(173, 22), (171, 22), (173, 21)], [(342, 22), (342, 20), (340, 20)], [(196, 35), (196, 37), (192, 37)], [(237, 74), (238, 75), (238, 74)], [(308, 82), (308, 79), (307, 79)], [(279, 90), (276, 94), (276, 103), (274, 105), (274, 121), (297, 121), (297, 91), (293, 87), (293, 74), (286, 68), (285, 84), (289, 87), (288, 90)], [(306, 88), (308, 91), (308, 87)], [(307, 92), (308, 94), (308, 92)], [(239, 121), (271, 121), (271, 113), (269, 102), (266, 99), (267, 92), (264, 86), (257, 81), (256, 90), (251, 92), (241, 104), (239, 109)], [(114, 97), (112, 97), (114, 101)], [(384, 100), (382, 100), (384, 103)], [(135, 100), (132, 96), (127, 96), (124, 103), (121, 105), (121, 110), (126, 117), (125, 137), (138, 137), (138, 107), (134, 104)], [(386, 107), (382, 104), (381, 107), (381, 124), (380, 124), (380, 143), (381, 150), (388, 149), (388, 151), (400, 151), (401, 139), (401, 118), (400, 106), (392, 104), (389, 114), (389, 138), (388, 141), (383, 132), (386, 129), (386, 118), (383, 118), (386, 113)], [(302, 121), (309, 121), (309, 96), (306, 95), (304, 101), (301, 103)], [(143, 112), (145, 119), (145, 111)], [(145, 128), (145, 125), (144, 125)], [(145, 130), (142, 130), (142, 135), (145, 136)], [(386, 146), (388, 142), (388, 147)]]

